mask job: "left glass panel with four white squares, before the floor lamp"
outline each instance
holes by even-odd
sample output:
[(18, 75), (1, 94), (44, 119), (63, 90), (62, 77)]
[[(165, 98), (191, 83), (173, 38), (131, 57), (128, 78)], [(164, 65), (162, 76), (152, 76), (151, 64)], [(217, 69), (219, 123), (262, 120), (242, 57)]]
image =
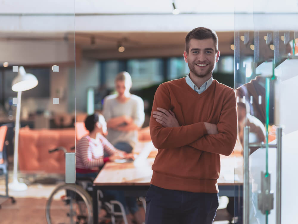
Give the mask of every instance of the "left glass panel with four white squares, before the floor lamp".
[(1, 223), (76, 223), (55, 191), (76, 144), (74, 1), (3, 1), (0, 20)]

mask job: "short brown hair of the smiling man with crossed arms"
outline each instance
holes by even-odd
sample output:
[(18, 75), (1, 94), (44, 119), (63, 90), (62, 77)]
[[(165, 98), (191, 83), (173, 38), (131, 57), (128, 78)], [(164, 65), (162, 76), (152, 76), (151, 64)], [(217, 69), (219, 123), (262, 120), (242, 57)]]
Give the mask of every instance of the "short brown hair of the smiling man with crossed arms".
[(204, 40), (212, 38), (215, 45), (215, 50), (218, 51), (218, 37), (215, 31), (205, 27), (197, 27), (190, 31), (185, 37), (185, 51), (188, 53), (190, 39)]

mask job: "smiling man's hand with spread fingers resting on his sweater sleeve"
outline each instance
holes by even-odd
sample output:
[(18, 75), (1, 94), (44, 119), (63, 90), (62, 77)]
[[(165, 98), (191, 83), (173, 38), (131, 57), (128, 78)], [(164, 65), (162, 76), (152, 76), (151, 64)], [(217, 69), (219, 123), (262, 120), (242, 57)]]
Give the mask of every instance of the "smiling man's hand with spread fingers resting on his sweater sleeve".
[[(153, 118), (164, 127), (180, 127), (175, 114), (163, 108), (156, 108), (158, 111), (153, 111)], [(159, 112), (160, 111), (160, 112)]]

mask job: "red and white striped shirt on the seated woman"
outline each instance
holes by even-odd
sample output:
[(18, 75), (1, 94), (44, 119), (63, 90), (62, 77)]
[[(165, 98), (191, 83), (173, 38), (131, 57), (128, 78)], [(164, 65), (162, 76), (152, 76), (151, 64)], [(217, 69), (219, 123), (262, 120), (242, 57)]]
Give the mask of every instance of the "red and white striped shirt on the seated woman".
[(97, 134), (96, 139), (84, 136), (76, 147), (76, 168), (91, 171), (91, 168), (103, 165), (106, 162), (104, 151), (111, 155), (116, 148), (101, 134)]

